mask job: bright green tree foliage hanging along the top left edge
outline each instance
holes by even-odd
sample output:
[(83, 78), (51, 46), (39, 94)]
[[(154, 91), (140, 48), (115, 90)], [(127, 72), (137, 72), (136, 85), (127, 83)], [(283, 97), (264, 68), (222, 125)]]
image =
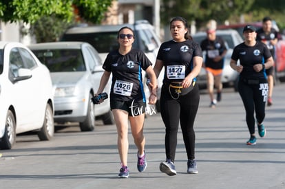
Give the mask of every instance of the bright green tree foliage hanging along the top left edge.
[(35, 23), (43, 16), (54, 15), (65, 22), (78, 14), (92, 23), (98, 23), (112, 0), (0, 0), (0, 19), (4, 22)]

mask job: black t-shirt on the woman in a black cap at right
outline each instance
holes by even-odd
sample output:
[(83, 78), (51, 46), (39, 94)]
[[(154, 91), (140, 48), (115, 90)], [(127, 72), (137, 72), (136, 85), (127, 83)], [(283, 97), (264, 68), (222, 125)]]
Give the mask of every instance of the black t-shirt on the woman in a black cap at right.
[(240, 59), (240, 65), (244, 68), (240, 73), (241, 78), (266, 78), (265, 70), (256, 72), (253, 65), (264, 64), (271, 57), (271, 52), (264, 43), (259, 41), (253, 47), (240, 43), (233, 49), (231, 58), (235, 61)]

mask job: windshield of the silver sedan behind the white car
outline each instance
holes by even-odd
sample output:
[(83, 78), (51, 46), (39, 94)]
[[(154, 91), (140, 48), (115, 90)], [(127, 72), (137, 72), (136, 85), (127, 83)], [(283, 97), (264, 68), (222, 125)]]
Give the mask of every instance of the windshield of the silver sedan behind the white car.
[(50, 69), (59, 71), (86, 71), (83, 56), (79, 49), (33, 50), (37, 58)]

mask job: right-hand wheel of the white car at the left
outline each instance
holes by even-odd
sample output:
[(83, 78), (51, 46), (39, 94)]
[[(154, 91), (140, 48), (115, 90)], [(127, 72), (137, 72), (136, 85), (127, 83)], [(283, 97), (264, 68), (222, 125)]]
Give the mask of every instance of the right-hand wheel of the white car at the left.
[(54, 136), (54, 114), (52, 112), (52, 107), (47, 104), (45, 108), (45, 120), (43, 121), (43, 126), (38, 132), (38, 137), (40, 140), (50, 140)]

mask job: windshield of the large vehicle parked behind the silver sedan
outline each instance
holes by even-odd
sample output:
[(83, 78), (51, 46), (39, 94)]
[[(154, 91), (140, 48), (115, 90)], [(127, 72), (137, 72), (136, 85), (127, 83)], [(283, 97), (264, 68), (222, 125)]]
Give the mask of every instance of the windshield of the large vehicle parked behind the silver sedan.
[[(118, 32), (97, 32), (90, 34), (64, 34), (61, 41), (85, 41), (90, 43), (98, 53), (108, 53), (114, 49), (118, 49)], [(138, 48), (136, 40), (133, 44), (134, 48)]]

